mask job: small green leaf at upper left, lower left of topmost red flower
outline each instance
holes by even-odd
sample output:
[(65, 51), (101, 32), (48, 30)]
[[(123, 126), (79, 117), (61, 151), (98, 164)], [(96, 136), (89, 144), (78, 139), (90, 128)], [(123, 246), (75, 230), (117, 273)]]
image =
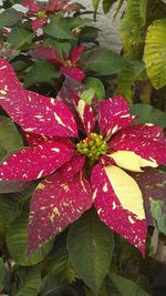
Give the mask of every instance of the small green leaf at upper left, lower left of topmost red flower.
[(8, 42), (14, 44), (17, 48), (21, 48), (24, 44), (29, 44), (32, 42), (33, 33), (22, 29), (22, 28), (13, 28), (8, 38)]

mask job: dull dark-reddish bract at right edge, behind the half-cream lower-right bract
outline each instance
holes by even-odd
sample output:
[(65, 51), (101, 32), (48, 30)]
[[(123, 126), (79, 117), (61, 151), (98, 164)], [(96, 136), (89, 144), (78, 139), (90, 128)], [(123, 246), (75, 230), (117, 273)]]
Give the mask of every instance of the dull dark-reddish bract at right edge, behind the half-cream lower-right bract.
[(154, 226), (149, 200), (160, 200), (166, 203), (166, 172), (146, 167), (143, 173), (129, 174), (135, 178), (143, 193), (147, 224)]

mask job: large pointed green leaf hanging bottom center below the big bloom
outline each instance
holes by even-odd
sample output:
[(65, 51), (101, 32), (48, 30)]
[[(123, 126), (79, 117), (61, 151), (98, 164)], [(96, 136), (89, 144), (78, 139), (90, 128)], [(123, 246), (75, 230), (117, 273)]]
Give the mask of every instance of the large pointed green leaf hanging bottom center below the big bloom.
[(90, 211), (71, 225), (68, 249), (80, 277), (97, 294), (112, 261), (113, 232), (98, 220), (94, 211)]

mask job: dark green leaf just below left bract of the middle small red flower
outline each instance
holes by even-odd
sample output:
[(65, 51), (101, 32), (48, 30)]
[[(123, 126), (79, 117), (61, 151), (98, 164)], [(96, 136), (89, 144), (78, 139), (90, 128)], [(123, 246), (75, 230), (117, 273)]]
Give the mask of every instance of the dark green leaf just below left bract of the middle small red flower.
[(31, 67), (24, 76), (24, 88), (28, 89), (33, 84), (46, 82), (54, 85), (54, 80), (60, 75), (61, 73), (52, 64), (39, 61)]

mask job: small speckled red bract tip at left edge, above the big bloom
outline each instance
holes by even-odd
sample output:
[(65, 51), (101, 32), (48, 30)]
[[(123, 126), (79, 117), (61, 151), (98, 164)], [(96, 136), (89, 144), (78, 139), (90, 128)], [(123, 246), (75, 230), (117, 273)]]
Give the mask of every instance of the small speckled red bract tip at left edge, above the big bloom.
[(22, 85), (10, 63), (4, 59), (0, 59), (0, 99), (11, 89), (19, 91)]

